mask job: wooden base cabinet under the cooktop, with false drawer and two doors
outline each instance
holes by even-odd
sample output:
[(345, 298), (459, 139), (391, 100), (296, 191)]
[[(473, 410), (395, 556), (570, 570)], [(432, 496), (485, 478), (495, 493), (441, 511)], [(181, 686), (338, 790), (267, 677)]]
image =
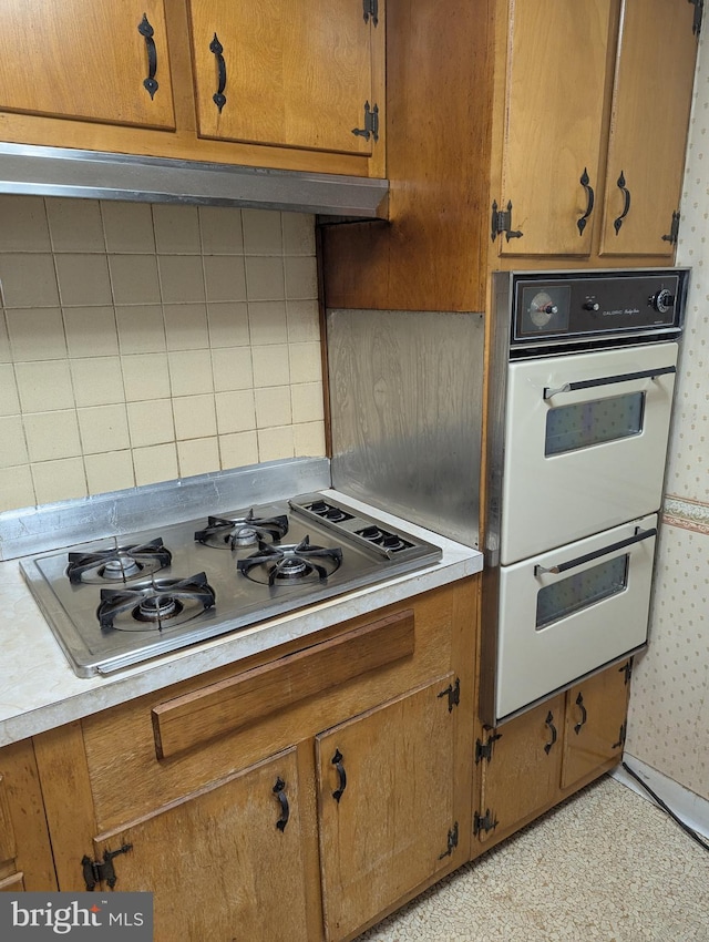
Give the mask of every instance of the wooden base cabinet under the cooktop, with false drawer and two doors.
[(465, 862), (479, 587), (37, 736), (59, 889), (153, 892), (155, 942), (339, 942)]

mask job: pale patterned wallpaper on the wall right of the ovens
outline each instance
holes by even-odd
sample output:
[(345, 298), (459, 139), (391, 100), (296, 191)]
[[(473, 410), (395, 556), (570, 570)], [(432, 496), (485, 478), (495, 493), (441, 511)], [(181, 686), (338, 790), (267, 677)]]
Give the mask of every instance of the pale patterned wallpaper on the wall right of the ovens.
[(658, 549), (650, 646), (626, 750), (709, 799), (709, 43), (699, 50), (677, 264), (691, 287)]

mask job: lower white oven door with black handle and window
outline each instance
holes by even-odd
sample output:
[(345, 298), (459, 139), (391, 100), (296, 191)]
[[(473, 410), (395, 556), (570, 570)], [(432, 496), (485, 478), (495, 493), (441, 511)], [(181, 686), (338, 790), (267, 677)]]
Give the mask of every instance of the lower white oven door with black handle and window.
[(497, 720), (647, 642), (657, 515), (500, 569)]

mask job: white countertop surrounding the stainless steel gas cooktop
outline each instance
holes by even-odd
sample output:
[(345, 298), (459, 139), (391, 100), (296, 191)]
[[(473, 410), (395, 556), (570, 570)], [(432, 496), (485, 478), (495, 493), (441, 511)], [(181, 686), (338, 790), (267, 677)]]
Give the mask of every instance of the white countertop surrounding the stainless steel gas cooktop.
[[(330, 491), (331, 496), (339, 496)], [(364, 513), (372, 508), (352, 498)], [(20, 572), (19, 562), (0, 562), (0, 746), (97, 713), (143, 694), (204, 674), (337, 622), (410, 598), (482, 570), (482, 554), (391, 514), (376, 515), (440, 546), (439, 563), (350, 592), (279, 618), (198, 643), (103, 677), (78, 677), (69, 666)]]

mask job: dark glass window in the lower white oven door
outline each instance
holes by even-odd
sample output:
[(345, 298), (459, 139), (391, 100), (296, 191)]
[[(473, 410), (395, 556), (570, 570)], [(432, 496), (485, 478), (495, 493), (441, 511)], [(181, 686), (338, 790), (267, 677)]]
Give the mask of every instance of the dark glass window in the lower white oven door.
[(566, 618), (627, 588), (628, 555), (615, 556), (584, 572), (541, 588), (536, 596), (536, 628)]

